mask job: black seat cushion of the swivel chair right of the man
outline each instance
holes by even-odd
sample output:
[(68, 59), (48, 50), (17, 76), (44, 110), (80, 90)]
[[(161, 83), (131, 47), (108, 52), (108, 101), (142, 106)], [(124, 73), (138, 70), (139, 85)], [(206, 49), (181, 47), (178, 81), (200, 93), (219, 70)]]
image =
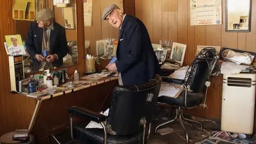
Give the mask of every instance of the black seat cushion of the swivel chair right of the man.
[[(195, 107), (202, 103), (204, 98), (204, 93), (187, 93), (187, 107)], [(173, 106), (185, 106), (185, 91), (181, 92), (178, 98), (170, 98), (161, 96), (158, 97), (157, 102), (167, 103)]]

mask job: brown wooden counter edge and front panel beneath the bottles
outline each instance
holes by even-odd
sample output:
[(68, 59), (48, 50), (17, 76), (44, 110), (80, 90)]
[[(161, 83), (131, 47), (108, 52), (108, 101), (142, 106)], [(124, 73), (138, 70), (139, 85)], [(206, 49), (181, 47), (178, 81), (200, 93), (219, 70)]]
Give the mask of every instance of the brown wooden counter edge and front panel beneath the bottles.
[[(111, 94), (118, 77), (105, 77), (98, 82), (76, 87), (73, 90), (38, 98), (28, 129), (35, 143), (47, 143), (47, 137), (66, 131), (70, 126), (68, 107), (79, 106), (95, 112), (110, 106)], [(29, 98), (35, 99), (35, 98)], [(74, 123), (83, 119), (74, 117)]]

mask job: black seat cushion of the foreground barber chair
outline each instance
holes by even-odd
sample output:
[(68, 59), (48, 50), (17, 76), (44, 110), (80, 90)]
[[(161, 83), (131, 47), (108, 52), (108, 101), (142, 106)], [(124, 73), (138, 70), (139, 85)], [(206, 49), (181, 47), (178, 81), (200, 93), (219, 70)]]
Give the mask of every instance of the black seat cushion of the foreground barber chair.
[[(88, 122), (82, 122), (73, 126), (75, 139), (86, 141), (86, 143), (103, 143), (103, 129), (85, 129)], [(107, 143), (142, 143), (143, 131), (131, 135), (107, 134)]]

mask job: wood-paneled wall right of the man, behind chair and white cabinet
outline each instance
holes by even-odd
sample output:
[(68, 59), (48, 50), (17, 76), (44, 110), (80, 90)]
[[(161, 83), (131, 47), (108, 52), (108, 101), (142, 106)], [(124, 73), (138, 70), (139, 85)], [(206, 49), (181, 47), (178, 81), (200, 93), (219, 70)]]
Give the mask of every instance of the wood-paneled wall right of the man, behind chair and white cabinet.
[[(220, 45), (235, 49), (256, 51), (256, 1), (252, 1), (252, 18), (250, 33), (227, 33), (226, 1), (222, 1), (222, 25), (190, 26), (190, 0), (136, 0), (135, 15), (145, 23), (151, 41), (171, 40), (187, 44), (184, 65), (190, 65), (194, 59), (197, 45)], [(220, 119), (222, 84), (218, 86), (219, 77), (211, 79), (212, 84), (207, 93), (208, 109), (198, 107), (194, 115)], [(222, 79), (221, 79), (222, 80)]]

